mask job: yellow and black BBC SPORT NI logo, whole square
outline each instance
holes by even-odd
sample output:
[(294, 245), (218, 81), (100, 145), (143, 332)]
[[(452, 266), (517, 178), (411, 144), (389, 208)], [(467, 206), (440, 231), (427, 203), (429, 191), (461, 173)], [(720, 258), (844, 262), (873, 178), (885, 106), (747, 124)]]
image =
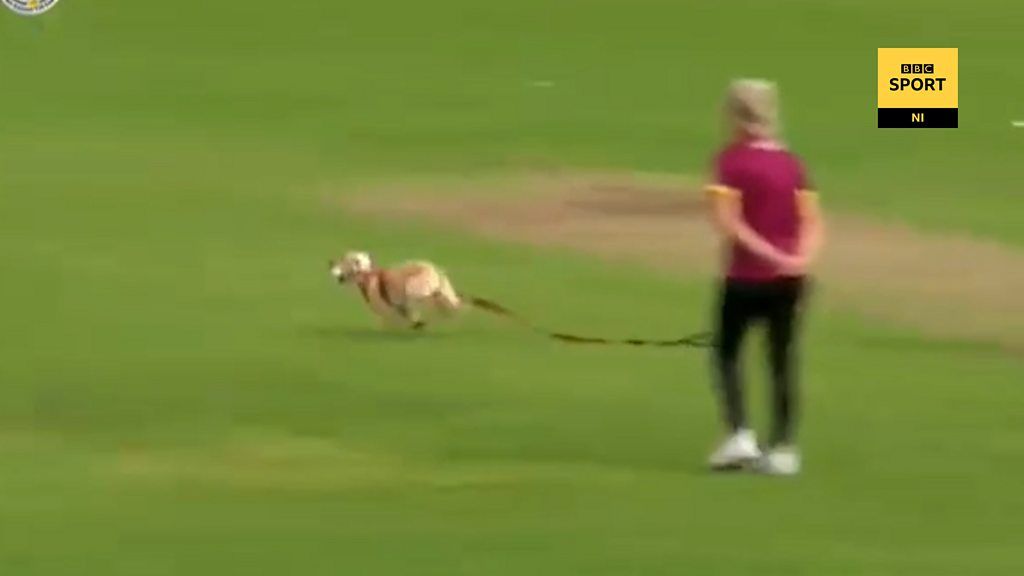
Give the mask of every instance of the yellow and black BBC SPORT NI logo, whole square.
[(957, 48), (879, 48), (879, 128), (956, 128)]

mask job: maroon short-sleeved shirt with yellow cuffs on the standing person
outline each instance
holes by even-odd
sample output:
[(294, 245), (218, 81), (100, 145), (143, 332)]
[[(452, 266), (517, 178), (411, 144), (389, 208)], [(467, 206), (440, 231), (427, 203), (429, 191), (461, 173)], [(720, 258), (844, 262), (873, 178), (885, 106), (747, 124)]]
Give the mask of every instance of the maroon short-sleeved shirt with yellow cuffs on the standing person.
[[(800, 205), (810, 186), (796, 155), (771, 140), (735, 142), (718, 155), (715, 179), (714, 192), (738, 195), (743, 219), (755, 232), (783, 252), (797, 252)], [(735, 243), (726, 276), (754, 282), (779, 278), (774, 265)]]

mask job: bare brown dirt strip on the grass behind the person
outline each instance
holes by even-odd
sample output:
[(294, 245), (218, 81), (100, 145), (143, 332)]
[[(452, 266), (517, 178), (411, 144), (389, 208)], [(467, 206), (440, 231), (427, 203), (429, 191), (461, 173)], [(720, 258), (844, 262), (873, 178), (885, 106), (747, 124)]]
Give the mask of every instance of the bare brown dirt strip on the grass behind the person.
[[(550, 173), (369, 187), (349, 207), (490, 238), (712, 274), (720, 247), (696, 181)], [(965, 236), (830, 213), (820, 264), (829, 304), (928, 333), (1024, 347), (1024, 253)]]

